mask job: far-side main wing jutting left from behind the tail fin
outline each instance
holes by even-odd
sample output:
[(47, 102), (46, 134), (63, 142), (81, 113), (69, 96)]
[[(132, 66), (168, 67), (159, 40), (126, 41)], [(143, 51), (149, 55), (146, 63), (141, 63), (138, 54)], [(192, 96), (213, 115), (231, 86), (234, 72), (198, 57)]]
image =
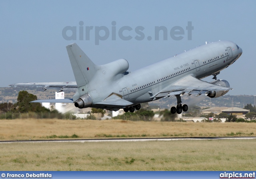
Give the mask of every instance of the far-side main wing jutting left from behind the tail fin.
[(77, 89), (76, 82), (45, 82), (45, 83), (16, 83), (9, 86), (37, 86), (42, 87), (45, 91), (47, 89), (61, 91), (75, 91)]

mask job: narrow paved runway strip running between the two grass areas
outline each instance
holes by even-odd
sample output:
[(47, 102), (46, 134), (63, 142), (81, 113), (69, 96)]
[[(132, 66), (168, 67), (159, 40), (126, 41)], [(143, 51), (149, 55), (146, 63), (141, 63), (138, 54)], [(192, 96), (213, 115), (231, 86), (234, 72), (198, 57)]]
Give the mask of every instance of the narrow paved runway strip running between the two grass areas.
[(138, 142), (138, 141), (177, 141), (177, 140), (224, 140), (256, 139), (256, 137), (163, 137), (163, 138), (121, 138), (121, 139), (61, 139), (61, 140), (22, 140), (0, 141), (1, 143), (42, 143), (42, 142)]

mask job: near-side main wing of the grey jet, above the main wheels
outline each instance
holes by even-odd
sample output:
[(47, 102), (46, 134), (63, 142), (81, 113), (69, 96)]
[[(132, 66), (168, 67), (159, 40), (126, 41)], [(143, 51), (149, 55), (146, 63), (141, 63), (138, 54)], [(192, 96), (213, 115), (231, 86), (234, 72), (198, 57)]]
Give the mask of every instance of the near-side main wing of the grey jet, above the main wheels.
[(160, 91), (158, 94), (152, 96), (154, 99), (160, 99), (162, 97), (169, 97), (170, 95), (188, 95), (196, 94), (208, 94), (210, 91), (227, 91), (232, 90), (232, 88), (227, 88), (220, 85), (211, 84), (199, 80), (193, 76), (186, 76), (174, 84), (166, 87), (164, 90)]

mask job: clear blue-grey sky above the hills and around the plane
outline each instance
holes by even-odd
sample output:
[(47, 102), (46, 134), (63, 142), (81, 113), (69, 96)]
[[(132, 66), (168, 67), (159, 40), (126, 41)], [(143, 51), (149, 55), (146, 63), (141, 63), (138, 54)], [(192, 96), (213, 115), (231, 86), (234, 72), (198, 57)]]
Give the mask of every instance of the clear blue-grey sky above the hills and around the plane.
[[(18, 82), (75, 81), (66, 46), (76, 42), (95, 64), (106, 64), (120, 58), (128, 60), (133, 71), (164, 60), (196, 46), (218, 40), (236, 42), (242, 56), (220, 72), (218, 79), (227, 80), (234, 90), (230, 95), (256, 95), (254, 60), (256, 40), (256, 1), (0, 1), (0, 86)], [(79, 22), (84, 24), (84, 40), (79, 40)], [(116, 25), (116, 40), (112, 40), (112, 22)], [(186, 26), (192, 22), (192, 40)], [(66, 40), (62, 30), (76, 27), (76, 40)], [(85, 40), (86, 26), (93, 26), (90, 40)], [(110, 31), (106, 40), (96, 45), (96, 27)], [(122, 40), (118, 30), (131, 40)], [(143, 40), (136, 40), (135, 28), (142, 26)], [(155, 26), (165, 26), (167, 40), (161, 34), (154, 40)], [(184, 29), (182, 40), (173, 40), (170, 30)], [(72, 35), (67, 31), (68, 36)], [(100, 36), (104, 36), (101, 31)], [(152, 36), (152, 40), (147, 37)], [(170, 67), (172, 68), (172, 67)], [(208, 82), (211, 77), (204, 78)]]

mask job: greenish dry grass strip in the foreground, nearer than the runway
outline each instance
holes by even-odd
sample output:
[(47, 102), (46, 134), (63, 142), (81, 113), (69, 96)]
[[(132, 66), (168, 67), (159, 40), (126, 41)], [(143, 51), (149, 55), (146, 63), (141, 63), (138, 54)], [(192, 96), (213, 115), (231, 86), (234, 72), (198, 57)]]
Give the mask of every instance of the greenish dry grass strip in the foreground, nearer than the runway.
[(254, 171), (256, 140), (0, 143), (2, 171)]

